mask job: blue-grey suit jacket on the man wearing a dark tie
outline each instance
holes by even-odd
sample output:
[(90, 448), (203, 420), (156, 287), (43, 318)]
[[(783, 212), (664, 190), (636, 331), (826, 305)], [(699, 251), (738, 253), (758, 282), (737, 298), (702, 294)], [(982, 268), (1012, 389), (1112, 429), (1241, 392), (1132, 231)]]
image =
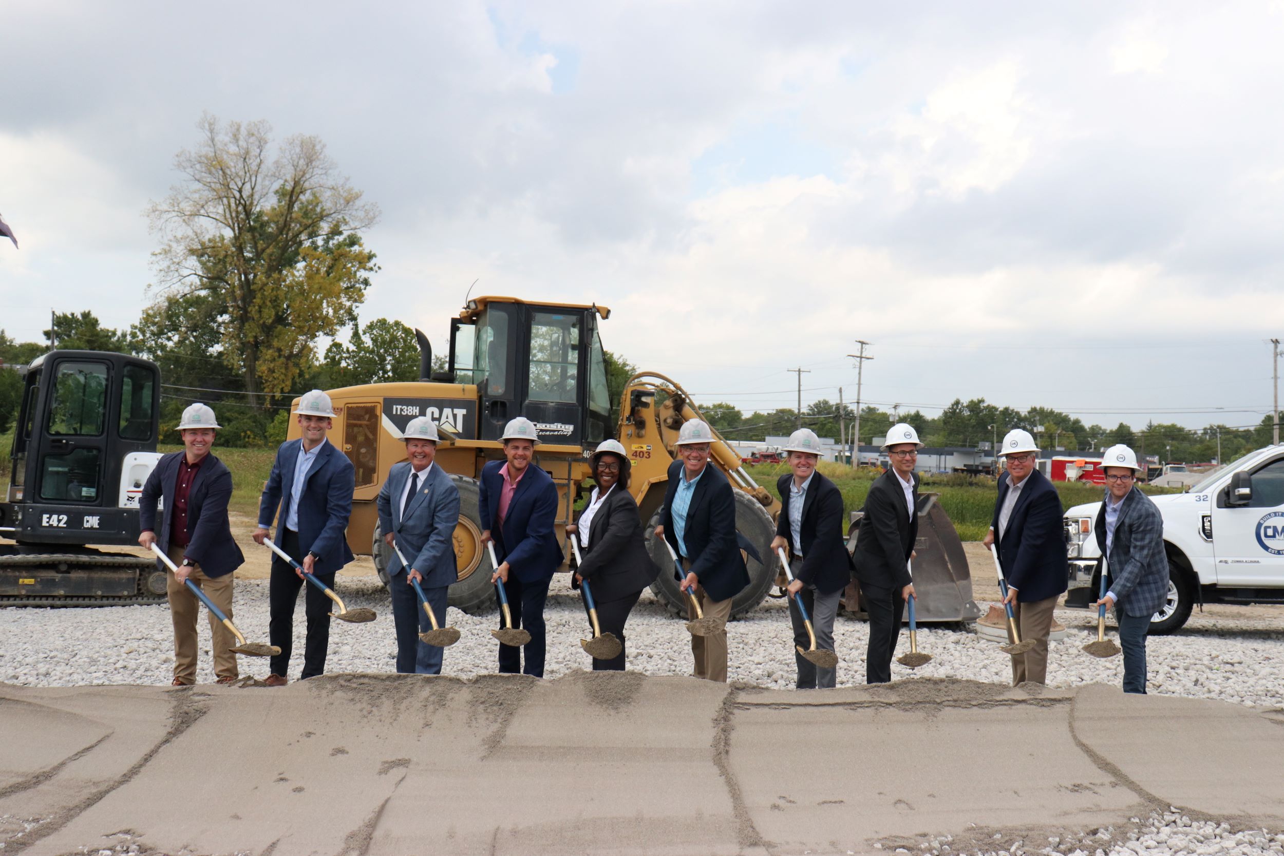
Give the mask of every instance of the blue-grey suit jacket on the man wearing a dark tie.
[[(410, 461), (394, 463), (388, 480), (379, 490), (375, 506), (379, 508), (379, 530), (393, 533), (397, 547), (406, 556), (411, 570), (424, 576), (422, 586), (435, 589), (460, 579), (455, 561), (455, 527), (460, 524), (460, 489), (437, 463), (428, 477), (420, 479), (419, 490), (406, 498), (402, 515), (402, 493), (411, 474)], [(388, 563), (388, 576), (404, 574), (406, 569), (393, 551)], [(404, 585), (404, 583), (402, 584)]]

